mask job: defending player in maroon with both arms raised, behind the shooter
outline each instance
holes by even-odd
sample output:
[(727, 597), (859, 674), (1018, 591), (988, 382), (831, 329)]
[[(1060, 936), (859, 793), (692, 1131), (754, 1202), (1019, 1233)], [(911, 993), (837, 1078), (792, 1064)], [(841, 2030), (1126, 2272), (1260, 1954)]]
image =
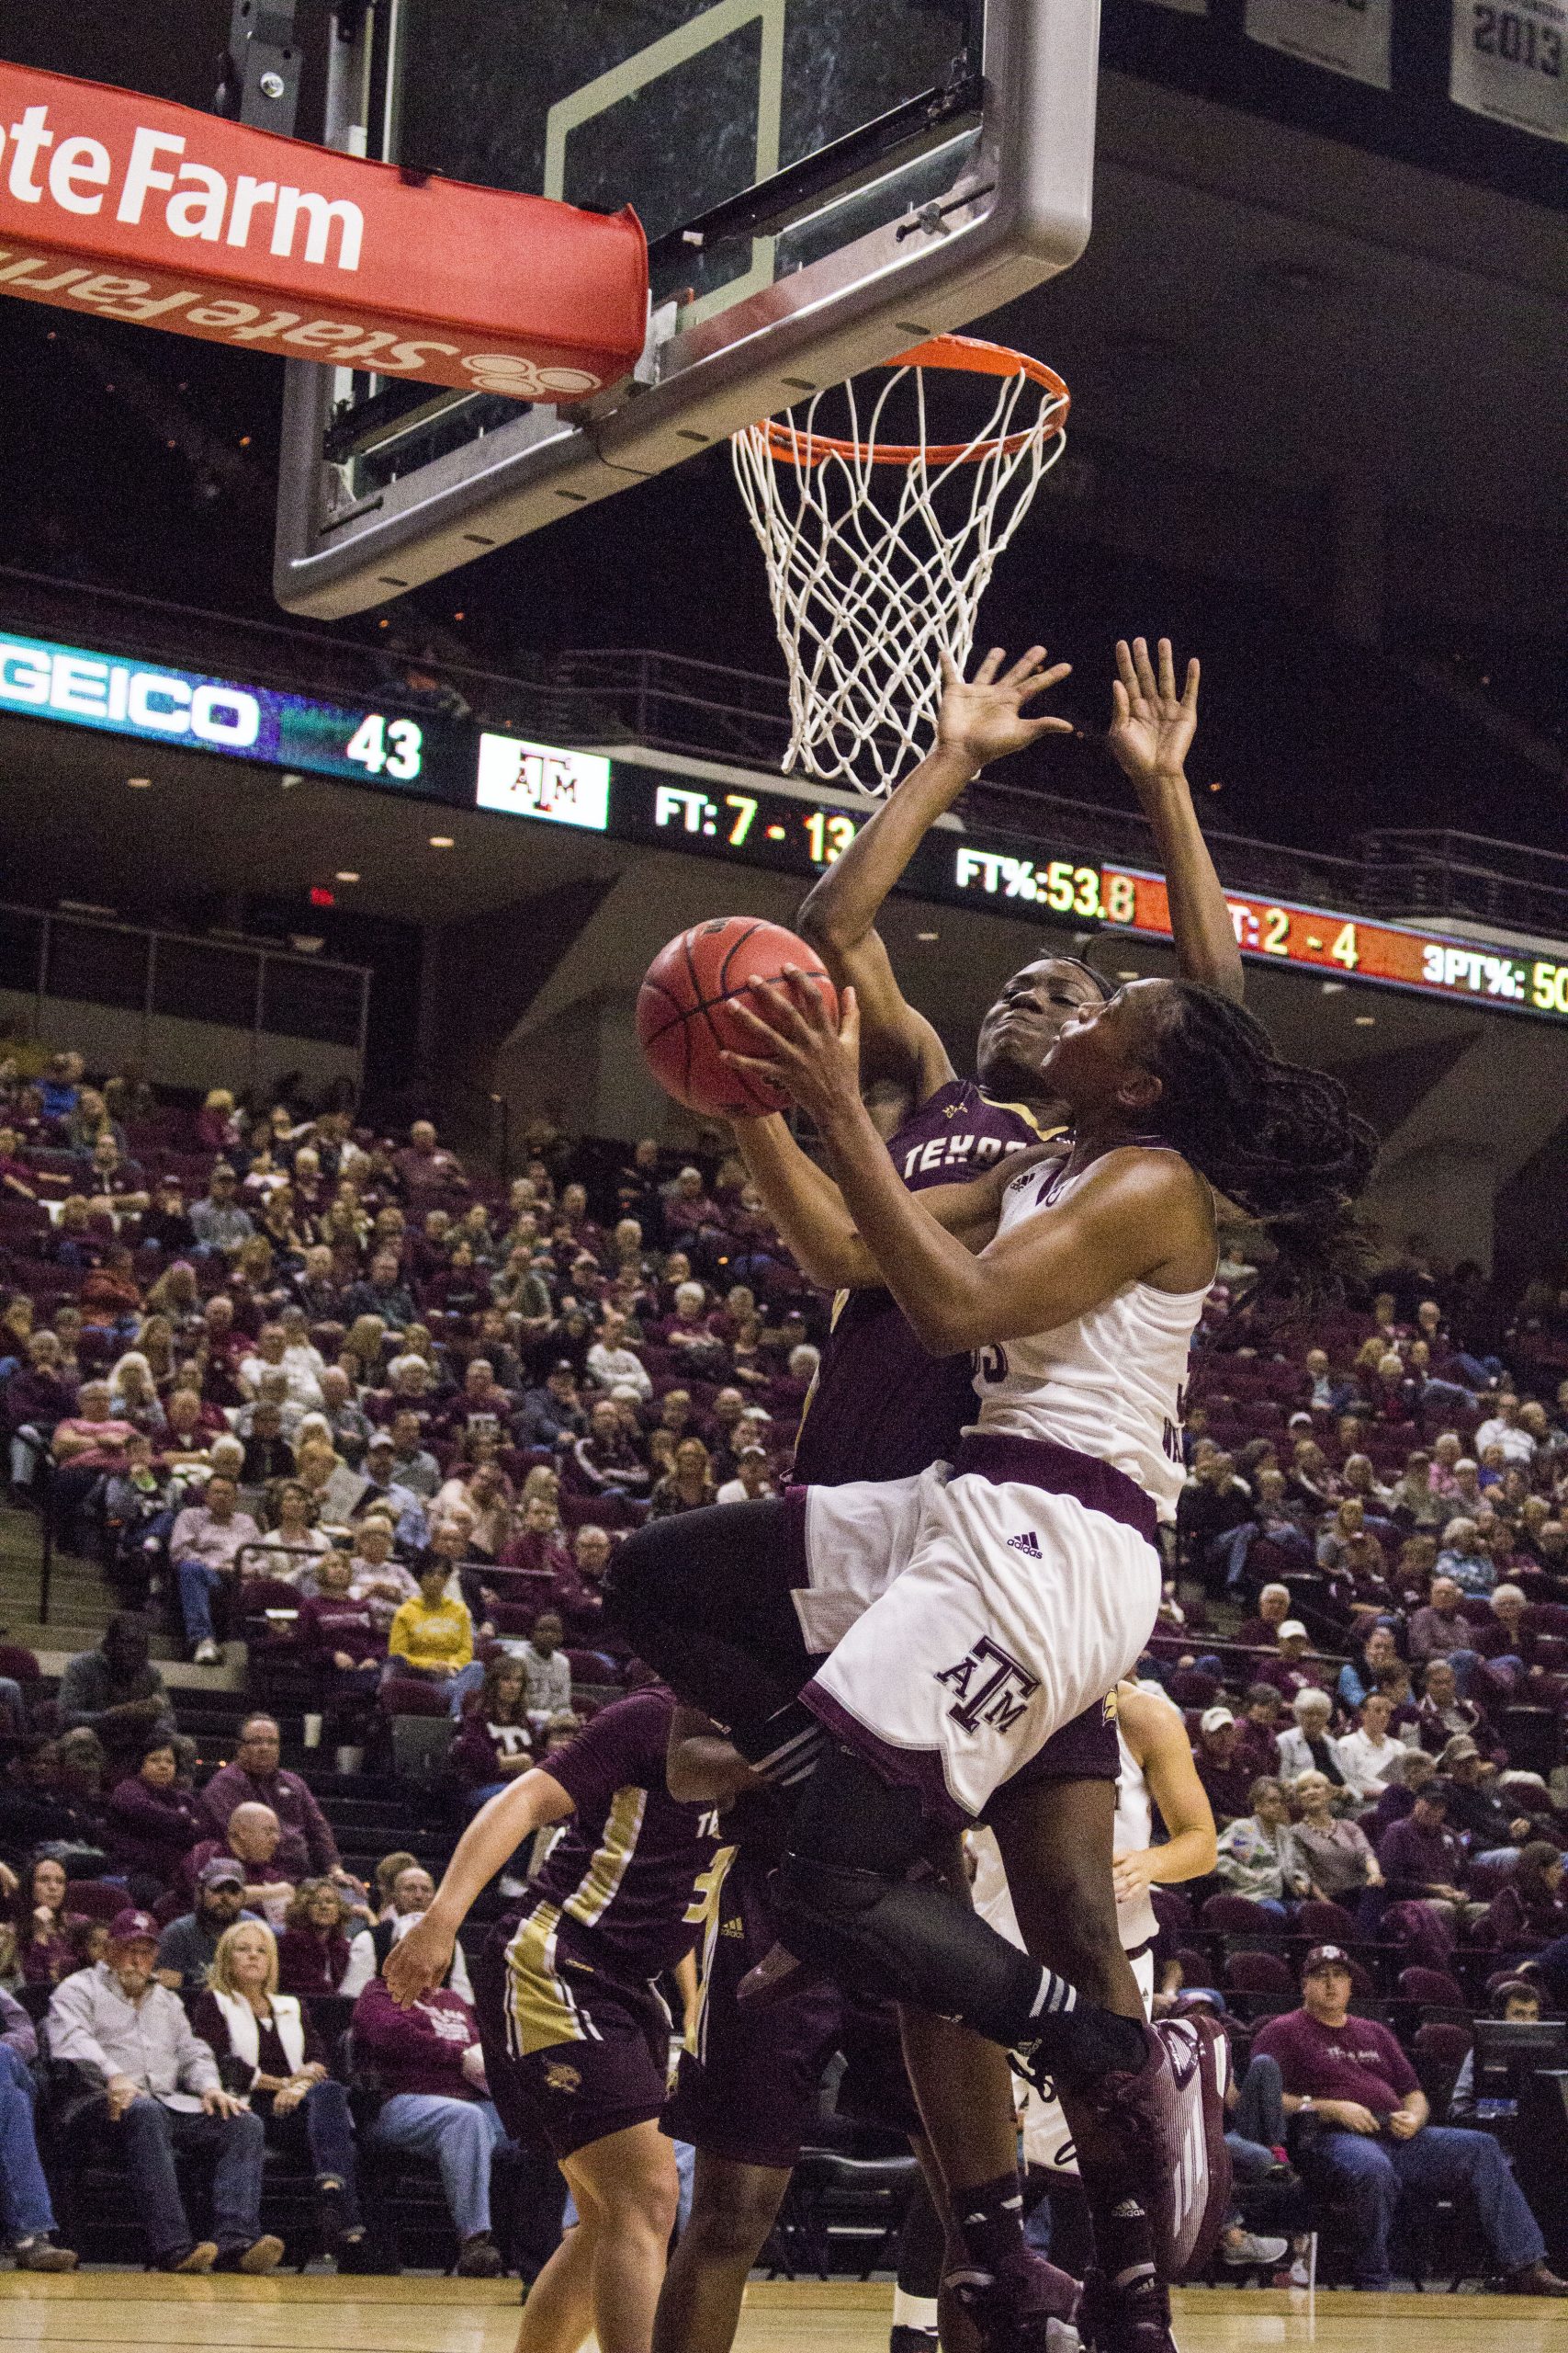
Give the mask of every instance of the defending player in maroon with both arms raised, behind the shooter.
[[(957, 1078), (947, 1049), (924, 1014), (903, 998), (893, 965), (877, 932), (889, 892), (903, 878), (931, 826), (952, 807), (978, 769), (1048, 732), (1070, 732), (1067, 720), (1023, 718), (1023, 704), (1067, 675), (1067, 666), (1041, 668), (1034, 647), (1001, 675), (1001, 656), (990, 654), (973, 682), (947, 664), (947, 692), (933, 753), (898, 786), (860, 828), (851, 847), (816, 882), (799, 911), (799, 929), (823, 955), (839, 988), (853, 986), (860, 1002), (860, 1078), (877, 1125), (891, 1122), (889, 1155), (910, 1191), (980, 1176), (999, 1160), (1023, 1153), (1065, 1129), (1063, 1106), (1041, 1087), (1039, 1061), (1063, 1021), (1103, 1002), (1110, 984), (1079, 958), (1039, 958), (1020, 967), (987, 1012), (976, 1042), (978, 1078)], [(1138, 791), (1150, 819), (1171, 892), (1171, 915), (1180, 969), (1227, 993), (1241, 993), (1241, 958), (1234, 929), (1204, 847), (1185, 776), (1185, 753), (1197, 725), (1197, 664), (1185, 692), (1175, 692), (1171, 645), (1159, 645), (1159, 671), (1143, 640), (1117, 647), (1117, 689), (1110, 748)], [(769, 1174), (766, 1122), (738, 1127), (743, 1153), (752, 1153), (759, 1176)], [(809, 1266), (809, 1238), (799, 1238)], [(959, 1433), (973, 1419), (969, 1355), (933, 1358), (910, 1329), (893, 1297), (882, 1287), (842, 1292), (832, 1332), (799, 1431), (795, 1478), (802, 1487), (835, 1487), (849, 1480), (900, 1480), (933, 1459), (957, 1454)], [(1110, 1809), (1105, 1788), (1117, 1777), (1114, 1722), (1091, 1711), (1065, 1727), (1037, 1760), (1041, 1812), (1041, 1861), (1060, 1887), (1060, 1937), (1039, 1958), (1079, 1984), (1103, 1984), (1095, 1927), (1114, 1937), (1110, 1897)], [(717, 1784), (715, 1784), (717, 1788)], [(1105, 1819), (1103, 1819), (1105, 1817)], [(745, 1845), (729, 1873), (736, 1920), (750, 1929), (748, 1960), (766, 1951), (766, 1857)], [(947, 1878), (957, 1885), (952, 1859)], [(1103, 1882), (1103, 1889), (1100, 1889)], [(1105, 1894), (1095, 1904), (1095, 1892)], [(1100, 1920), (1105, 1913), (1105, 1920)], [(731, 1988), (741, 1981), (736, 1955), (717, 1955)], [(726, 1988), (710, 1988), (717, 2005)], [(733, 1991), (731, 1991), (733, 1998)], [(750, 2017), (748, 2017), (750, 2012)], [(701, 2311), (712, 2334), (691, 2334), (693, 2353), (724, 2353), (738, 2308), (745, 2240), (752, 2254), (771, 2228), (783, 2195), (790, 2153), (788, 2132), (762, 2132), (745, 2099), (755, 2066), (783, 2078), (780, 2054), (799, 2042), (818, 2047), (823, 2031), (820, 1988), (804, 1986), (766, 2012), (743, 2005), (708, 2033), (703, 2061), (689, 2066), (684, 2087), (686, 2137), (698, 2146), (698, 2181), (691, 2233), (677, 2252), (661, 2306), (661, 2353), (665, 2306), (679, 2299), (684, 2332), (698, 2327)], [(919, 2073), (922, 2108), (933, 2139), (957, 2169), (957, 2179), (990, 2181), (1011, 2165), (1004, 2148), (1006, 2068), (997, 2049), (964, 2028), (907, 2014), (905, 2045)], [(701, 2087), (701, 2092), (698, 2092)], [(980, 2092), (985, 2087), (985, 2092)], [(719, 2118), (729, 2113), (726, 2129)], [(889, 2113), (884, 2120), (896, 2122)], [(954, 2179), (954, 2174), (950, 2174)], [(712, 2235), (712, 2278), (696, 2278), (705, 2238)], [(959, 2247), (950, 2249), (950, 2271)], [(733, 2304), (719, 2273), (729, 2273)], [(689, 2278), (691, 2275), (691, 2278)], [(722, 2315), (731, 2311), (729, 2334)], [(933, 2315), (922, 2313), (922, 2320)], [(950, 2320), (952, 2329), (952, 2320)], [(1041, 2320), (1044, 2334), (1044, 2320)], [(686, 2344), (686, 2337), (682, 2337)], [(914, 2353), (917, 2337), (896, 2332), (893, 2353)]]

